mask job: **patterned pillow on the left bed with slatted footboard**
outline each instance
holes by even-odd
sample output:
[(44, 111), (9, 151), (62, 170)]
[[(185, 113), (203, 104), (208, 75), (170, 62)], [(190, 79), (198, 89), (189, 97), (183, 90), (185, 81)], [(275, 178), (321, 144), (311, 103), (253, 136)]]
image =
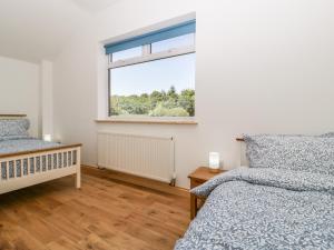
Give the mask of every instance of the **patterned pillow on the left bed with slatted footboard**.
[(0, 120), (0, 138), (17, 139), (29, 137), (28, 119)]

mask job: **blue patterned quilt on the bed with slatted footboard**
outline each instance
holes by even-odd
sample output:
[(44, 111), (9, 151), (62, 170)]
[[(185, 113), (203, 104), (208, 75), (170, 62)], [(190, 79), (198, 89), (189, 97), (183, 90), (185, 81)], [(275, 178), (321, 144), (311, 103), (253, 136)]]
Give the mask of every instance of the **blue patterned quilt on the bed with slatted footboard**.
[(13, 140), (0, 139), (0, 154), (47, 149), (57, 146), (59, 146), (59, 143), (42, 141), (35, 138), (18, 138)]

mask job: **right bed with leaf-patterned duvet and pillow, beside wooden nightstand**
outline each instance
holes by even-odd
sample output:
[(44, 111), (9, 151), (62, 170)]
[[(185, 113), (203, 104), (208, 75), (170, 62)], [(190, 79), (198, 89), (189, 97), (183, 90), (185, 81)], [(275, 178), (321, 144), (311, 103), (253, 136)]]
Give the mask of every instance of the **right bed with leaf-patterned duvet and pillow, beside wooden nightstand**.
[(176, 250), (334, 249), (333, 138), (256, 140), (253, 168), (191, 190), (207, 200)]

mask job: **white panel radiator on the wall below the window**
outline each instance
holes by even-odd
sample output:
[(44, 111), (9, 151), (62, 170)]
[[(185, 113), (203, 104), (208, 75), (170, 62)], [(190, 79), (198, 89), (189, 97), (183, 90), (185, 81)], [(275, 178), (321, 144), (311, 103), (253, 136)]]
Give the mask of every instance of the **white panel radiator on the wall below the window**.
[(173, 138), (98, 132), (98, 166), (164, 182), (175, 180)]

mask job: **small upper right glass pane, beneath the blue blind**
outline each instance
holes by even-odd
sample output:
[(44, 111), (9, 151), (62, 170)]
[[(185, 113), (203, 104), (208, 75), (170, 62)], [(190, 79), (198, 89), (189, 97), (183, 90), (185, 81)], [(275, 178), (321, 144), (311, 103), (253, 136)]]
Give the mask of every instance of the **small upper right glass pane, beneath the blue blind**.
[(170, 49), (189, 47), (195, 44), (195, 33), (189, 33), (159, 42), (151, 43), (151, 52), (157, 53)]

